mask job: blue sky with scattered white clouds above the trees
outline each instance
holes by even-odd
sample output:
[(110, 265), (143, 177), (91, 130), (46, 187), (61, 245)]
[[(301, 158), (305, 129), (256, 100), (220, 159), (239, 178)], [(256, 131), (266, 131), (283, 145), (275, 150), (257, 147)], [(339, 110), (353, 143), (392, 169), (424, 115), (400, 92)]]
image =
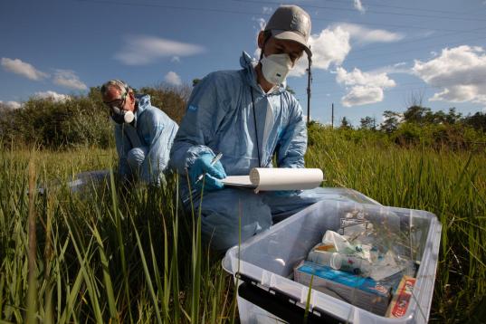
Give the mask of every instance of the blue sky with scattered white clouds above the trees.
[[(281, 3), (253, 0), (4, 0), (0, 101), (85, 92), (119, 78), (135, 88), (191, 84), (239, 69)], [(285, 3), (289, 4), (289, 3)], [(462, 114), (486, 108), (485, 0), (297, 0), (312, 20), (312, 119), (353, 125), (413, 99)], [(307, 109), (305, 60), (288, 83)]]

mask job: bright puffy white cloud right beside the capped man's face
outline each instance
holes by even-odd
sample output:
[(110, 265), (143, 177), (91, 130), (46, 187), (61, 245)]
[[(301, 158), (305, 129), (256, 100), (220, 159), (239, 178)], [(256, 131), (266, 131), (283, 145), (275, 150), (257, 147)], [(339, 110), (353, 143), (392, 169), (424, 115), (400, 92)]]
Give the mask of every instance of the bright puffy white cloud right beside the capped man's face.
[[(310, 35), (309, 43), (314, 69), (328, 70), (330, 64), (340, 65), (351, 50), (349, 33), (339, 26), (333, 29), (326, 28), (319, 34)], [(302, 76), (306, 73), (308, 62), (305, 57), (304, 54), (300, 58), (291, 75)]]

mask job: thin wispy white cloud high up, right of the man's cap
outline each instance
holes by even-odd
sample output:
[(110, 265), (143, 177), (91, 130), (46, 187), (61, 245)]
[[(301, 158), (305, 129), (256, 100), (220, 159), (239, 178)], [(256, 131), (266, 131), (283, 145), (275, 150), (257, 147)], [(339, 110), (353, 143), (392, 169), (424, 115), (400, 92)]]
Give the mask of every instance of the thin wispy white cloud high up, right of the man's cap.
[(369, 29), (360, 24), (338, 23), (341, 29), (347, 31), (357, 43), (391, 43), (404, 39), (403, 33), (392, 33), (384, 29)]

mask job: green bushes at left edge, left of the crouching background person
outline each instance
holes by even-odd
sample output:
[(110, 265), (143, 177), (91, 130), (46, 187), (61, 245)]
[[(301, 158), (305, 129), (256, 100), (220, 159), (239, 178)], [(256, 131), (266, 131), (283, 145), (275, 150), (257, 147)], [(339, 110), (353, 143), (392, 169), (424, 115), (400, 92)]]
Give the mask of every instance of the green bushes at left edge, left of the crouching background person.
[(108, 148), (113, 142), (108, 111), (93, 92), (65, 101), (27, 100), (0, 119), (2, 141), (53, 149)]

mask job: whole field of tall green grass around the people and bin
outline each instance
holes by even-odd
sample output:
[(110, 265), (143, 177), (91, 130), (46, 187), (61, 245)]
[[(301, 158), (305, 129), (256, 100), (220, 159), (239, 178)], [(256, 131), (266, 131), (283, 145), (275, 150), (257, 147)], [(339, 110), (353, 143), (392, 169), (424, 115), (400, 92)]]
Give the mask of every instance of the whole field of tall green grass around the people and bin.
[[(484, 148), (405, 148), (348, 135), (310, 129), (307, 167), (322, 168), (326, 186), (436, 214), (443, 235), (430, 319), (486, 319)], [(181, 212), (175, 176), (159, 189), (71, 195), (53, 186), (32, 195), (29, 187), (116, 167), (115, 152), (4, 149), (0, 163), (1, 321), (237, 321), (232, 278), (201, 246), (196, 211)]]

